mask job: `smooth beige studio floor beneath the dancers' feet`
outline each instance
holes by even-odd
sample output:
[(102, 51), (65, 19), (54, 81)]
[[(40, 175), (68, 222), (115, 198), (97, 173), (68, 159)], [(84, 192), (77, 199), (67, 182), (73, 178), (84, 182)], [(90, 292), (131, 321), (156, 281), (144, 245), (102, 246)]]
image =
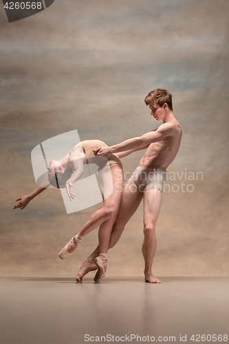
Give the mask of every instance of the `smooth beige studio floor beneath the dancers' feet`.
[(186, 343), (196, 343), (190, 340), (193, 334), (195, 339), (208, 334), (208, 342), (217, 338), (219, 343), (219, 335), (228, 334), (228, 289), (228, 277), (162, 277), (160, 285), (142, 277), (107, 277), (100, 283), (88, 277), (83, 283), (1, 278), (0, 342), (181, 343), (181, 335)]

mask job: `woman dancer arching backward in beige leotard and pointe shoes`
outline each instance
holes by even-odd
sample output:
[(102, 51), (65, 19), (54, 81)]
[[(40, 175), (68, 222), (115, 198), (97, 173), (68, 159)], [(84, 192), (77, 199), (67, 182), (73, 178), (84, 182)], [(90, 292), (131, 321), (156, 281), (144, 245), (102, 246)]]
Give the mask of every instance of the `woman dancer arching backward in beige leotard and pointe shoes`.
[(72, 193), (72, 187), (83, 174), (83, 165), (93, 163), (98, 165), (98, 180), (102, 186), (103, 206), (89, 217), (83, 228), (80, 229), (78, 234), (59, 253), (61, 259), (69, 257), (77, 248), (78, 244), (81, 243), (85, 235), (100, 226), (98, 231), (100, 253), (95, 259), (98, 268), (94, 277), (94, 281), (96, 282), (99, 282), (105, 277), (107, 270), (107, 250), (111, 230), (116, 221), (122, 197), (123, 171), (122, 162), (118, 158), (118, 155), (120, 157), (124, 156), (124, 152), (122, 152), (120, 154), (111, 154), (108, 159), (100, 157), (94, 152), (94, 149), (99, 147), (107, 147), (107, 144), (100, 140), (85, 140), (76, 144), (61, 160), (51, 160), (45, 181), (37, 186), (30, 195), (19, 197), (16, 200), (20, 201), (19, 204), (14, 206), (14, 209), (24, 209), (34, 197), (45, 191), (50, 184), (59, 189), (66, 188), (69, 199), (72, 201), (76, 197)]

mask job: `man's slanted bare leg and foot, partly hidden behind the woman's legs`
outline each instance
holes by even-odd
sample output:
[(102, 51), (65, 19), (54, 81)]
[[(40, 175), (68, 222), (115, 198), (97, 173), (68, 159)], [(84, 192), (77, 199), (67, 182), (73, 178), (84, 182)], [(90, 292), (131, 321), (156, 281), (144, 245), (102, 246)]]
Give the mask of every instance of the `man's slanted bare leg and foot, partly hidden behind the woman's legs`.
[[(135, 189), (130, 184), (126, 184), (124, 190), (122, 191), (122, 200), (120, 205), (120, 210), (116, 222), (113, 224), (111, 238), (109, 241), (109, 248), (116, 245), (125, 225), (138, 209), (138, 206), (142, 200), (143, 193)], [(94, 259), (99, 255), (99, 246), (91, 253), (91, 255), (85, 260), (83, 266), (81, 266), (76, 281), (82, 281), (83, 277), (89, 272), (96, 270), (96, 264), (94, 264)]]

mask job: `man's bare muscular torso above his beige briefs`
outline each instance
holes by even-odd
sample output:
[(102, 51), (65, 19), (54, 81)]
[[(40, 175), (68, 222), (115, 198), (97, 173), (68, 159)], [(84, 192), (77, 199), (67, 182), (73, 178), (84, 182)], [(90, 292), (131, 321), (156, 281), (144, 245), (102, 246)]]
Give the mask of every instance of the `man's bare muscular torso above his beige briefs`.
[(173, 162), (179, 150), (182, 139), (182, 129), (179, 122), (173, 122), (173, 135), (164, 138), (159, 142), (151, 143), (140, 160), (140, 164), (146, 166), (155, 165), (167, 168)]

